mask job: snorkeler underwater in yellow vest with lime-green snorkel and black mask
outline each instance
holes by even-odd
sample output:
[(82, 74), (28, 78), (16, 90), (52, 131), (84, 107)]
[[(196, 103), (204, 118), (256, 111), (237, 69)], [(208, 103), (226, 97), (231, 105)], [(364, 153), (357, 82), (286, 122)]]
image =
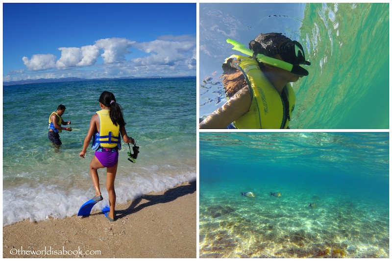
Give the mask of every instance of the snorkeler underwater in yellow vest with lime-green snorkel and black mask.
[(247, 56), (226, 59), (222, 82), (229, 100), (203, 119), (199, 127), (289, 128), (295, 94), (288, 83), (309, 74), (299, 66), (310, 65), (303, 47), (281, 33), (260, 34), (249, 43), (250, 49), (231, 39), (226, 42)]

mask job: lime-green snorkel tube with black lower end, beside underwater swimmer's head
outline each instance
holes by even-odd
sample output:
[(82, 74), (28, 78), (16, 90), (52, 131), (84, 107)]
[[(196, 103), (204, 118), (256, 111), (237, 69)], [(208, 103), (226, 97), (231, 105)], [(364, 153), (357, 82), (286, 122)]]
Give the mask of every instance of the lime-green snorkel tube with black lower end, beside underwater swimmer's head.
[[(248, 56), (253, 56), (253, 51), (251, 49), (248, 49), (247, 47), (245, 47), (245, 45), (240, 44), (240, 43), (238, 43), (238, 42), (236, 42), (236, 41), (234, 41), (232, 39), (227, 39), (226, 42), (228, 44), (231, 44), (231, 45), (234, 46), (232, 48), (233, 50), (240, 51), (243, 54), (246, 54)], [(281, 69), (286, 70), (286, 71), (291, 71), (291, 72), (293, 72), (295, 74), (298, 74), (298, 75), (306, 76), (306, 75), (309, 74), (308, 71), (306, 71), (305, 69), (303, 69), (302, 67), (300, 67), (298, 65), (293, 65), (291, 63), (288, 63), (288, 62), (285, 62), (285, 61), (282, 61), (282, 60), (279, 60), (279, 59), (275, 59), (275, 58), (272, 58), (270, 56), (267, 56), (267, 55), (264, 55), (264, 54), (261, 54), (261, 53), (258, 53), (256, 55), (256, 59), (260, 63), (269, 64), (269, 65), (271, 65), (273, 67), (281, 68)], [(307, 64), (307, 63), (309, 63), (309, 62), (305, 62), (304, 64), (310, 65), (310, 63), (309, 64)]]

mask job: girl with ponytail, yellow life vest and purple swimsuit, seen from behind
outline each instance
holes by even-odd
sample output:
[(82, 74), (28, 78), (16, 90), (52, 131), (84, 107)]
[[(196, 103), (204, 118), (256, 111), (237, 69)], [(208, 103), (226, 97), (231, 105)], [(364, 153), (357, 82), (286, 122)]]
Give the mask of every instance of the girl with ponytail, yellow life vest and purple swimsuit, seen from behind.
[(110, 206), (110, 212), (106, 216), (110, 221), (114, 221), (116, 217), (114, 212), (116, 205), (114, 179), (117, 172), (119, 150), (121, 149), (121, 138), (126, 143), (134, 144), (135, 141), (126, 134), (123, 110), (120, 104), (116, 102), (114, 95), (105, 91), (100, 95), (98, 101), (101, 110), (91, 118), (90, 128), (79, 156), (84, 158), (91, 138), (93, 138), (92, 149), (95, 150), (95, 155), (90, 163), (90, 175), (96, 190), (93, 200), (98, 202), (103, 199), (99, 190), (97, 170), (106, 167), (106, 189), (109, 194)]

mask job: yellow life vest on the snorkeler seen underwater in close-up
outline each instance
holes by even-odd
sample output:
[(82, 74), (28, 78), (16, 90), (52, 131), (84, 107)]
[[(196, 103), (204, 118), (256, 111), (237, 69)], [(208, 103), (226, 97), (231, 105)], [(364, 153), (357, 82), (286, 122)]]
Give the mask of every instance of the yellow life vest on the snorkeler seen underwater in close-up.
[(295, 94), (291, 85), (287, 84), (282, 95), (279, 95), (270, 80), (260, 70), (256, 60), (241, 55), (232, 55), (226, 59), (225, 63), (230, 63), (230, 59), (238, 60), (238, 69), (244, 73), (252, 96), (249, 111), (234, 121), (235, 126), (238, 129), (287, 128), (295, 104)]

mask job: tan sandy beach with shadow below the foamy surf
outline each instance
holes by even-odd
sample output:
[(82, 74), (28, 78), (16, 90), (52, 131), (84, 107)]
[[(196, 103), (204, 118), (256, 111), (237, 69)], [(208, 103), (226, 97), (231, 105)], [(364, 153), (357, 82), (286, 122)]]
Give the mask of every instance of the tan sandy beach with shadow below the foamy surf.
[(196, 181), (100, 211), (3, 227), (3, 258), (196, 258)]

